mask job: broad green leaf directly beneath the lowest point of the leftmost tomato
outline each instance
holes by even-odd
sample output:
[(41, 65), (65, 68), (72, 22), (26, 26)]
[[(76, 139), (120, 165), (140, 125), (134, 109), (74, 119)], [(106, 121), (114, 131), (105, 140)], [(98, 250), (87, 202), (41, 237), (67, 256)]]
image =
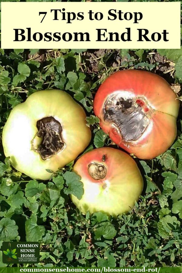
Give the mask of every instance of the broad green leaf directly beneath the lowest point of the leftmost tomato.
[(25, 196), (33, 197), (36, 194), (40, 194), (43, 190), (45, 190), (45, 188), (45, 184), (38, 183), (36, 180), (30, 180), (25, 187)]

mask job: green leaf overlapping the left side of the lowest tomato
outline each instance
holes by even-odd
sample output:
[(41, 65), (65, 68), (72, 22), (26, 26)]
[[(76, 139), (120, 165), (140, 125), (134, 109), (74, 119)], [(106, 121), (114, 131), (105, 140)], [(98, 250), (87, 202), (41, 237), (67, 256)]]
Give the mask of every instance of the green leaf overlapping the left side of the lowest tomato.
[(63, 177), (66, 180), (66, 185), (68, 186), (68, 188), (64, 189), (64, 193), (73, 194), (80, 200), (84, 193), (83, 183), (80, 181), (81, 177), (75, 172), (69, 171), (63, 174)]

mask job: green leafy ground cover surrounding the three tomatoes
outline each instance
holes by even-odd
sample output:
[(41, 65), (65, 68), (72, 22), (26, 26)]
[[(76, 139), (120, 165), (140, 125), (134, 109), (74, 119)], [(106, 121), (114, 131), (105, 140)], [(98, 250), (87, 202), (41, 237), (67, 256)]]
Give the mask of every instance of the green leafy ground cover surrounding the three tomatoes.
[[(182, 49), (0, 49), (1, 135), (13, 107), (37, 90), (58, 88), (71, 94), (87, 113), (92, 130), (87, 150), (116, 147), (99, 128), (93, 97), (110, 74), (133, 68), (162, 76), (180, 97)], [(53, 174), (50, 181), (35, 181), (12, 169), (1, 145), (1, 244), (39, 241), (41, 258), (36, 266), (180, 266), (180, 118), (181, 114), (177, 139), (167, 152), (153, 160), (135, 158), (144, 177), (143, 194), (128, 214), (117, 219), (101, 212), (82, 215), (72, 204), (69, 193), (79, 198), (83, 194), (79, 176), (70, 172), (74, 162)]]

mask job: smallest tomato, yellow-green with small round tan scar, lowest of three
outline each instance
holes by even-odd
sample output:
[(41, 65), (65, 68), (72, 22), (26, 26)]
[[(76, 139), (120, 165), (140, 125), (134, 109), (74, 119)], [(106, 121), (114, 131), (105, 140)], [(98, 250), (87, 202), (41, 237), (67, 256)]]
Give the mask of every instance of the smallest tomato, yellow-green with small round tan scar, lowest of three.
[(80, 157), (73, 171), (81, 177), (84, 194), (72, 202), (83, 212), (102, 211), (117, 216), (126, 213), (143, 190), (140, 171), (127, 153), (109, 147), (92, 150)]

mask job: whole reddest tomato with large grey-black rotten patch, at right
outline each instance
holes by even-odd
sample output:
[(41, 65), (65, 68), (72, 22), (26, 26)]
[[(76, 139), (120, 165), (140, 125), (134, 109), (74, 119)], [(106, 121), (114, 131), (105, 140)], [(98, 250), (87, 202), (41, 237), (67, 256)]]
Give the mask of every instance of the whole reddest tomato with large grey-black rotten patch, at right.
[(141, 159), (165, 152), (176, 138), (179, 100), (162, 77), (123, 70), (109, 76), (94, 99), (94, 113), (111, 140)]

